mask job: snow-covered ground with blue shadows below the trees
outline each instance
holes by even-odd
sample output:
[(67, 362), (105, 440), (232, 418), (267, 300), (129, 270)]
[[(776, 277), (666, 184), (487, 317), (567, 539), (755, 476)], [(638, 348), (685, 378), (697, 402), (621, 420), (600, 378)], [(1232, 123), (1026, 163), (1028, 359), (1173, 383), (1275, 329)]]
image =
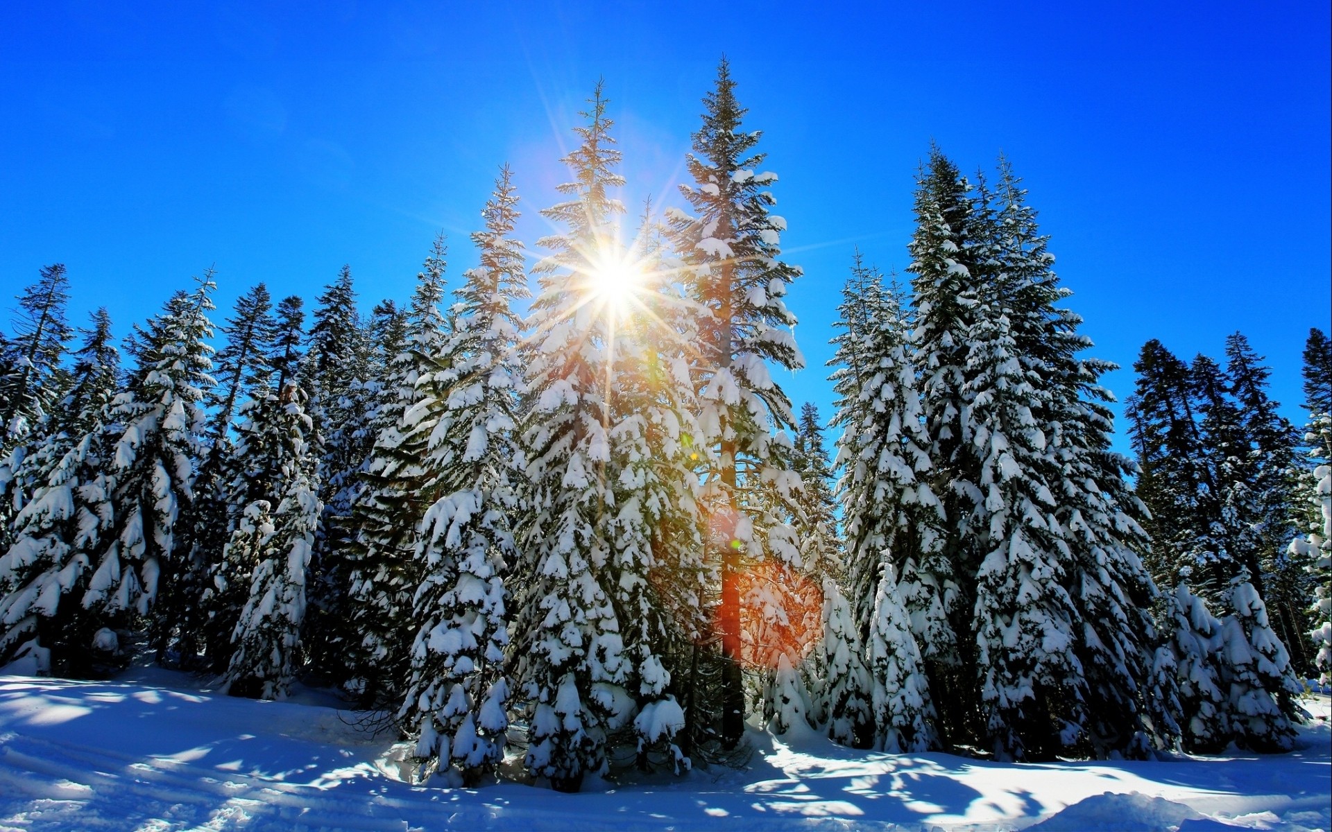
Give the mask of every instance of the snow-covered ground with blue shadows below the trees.
[(1014, 765), (751, 731), (745, 769), (578, 795), (413, 785), (402, 745), (333, 706), (0, 676), (0, 829), (1332, 829), (1325, 695), (1281, 756)]

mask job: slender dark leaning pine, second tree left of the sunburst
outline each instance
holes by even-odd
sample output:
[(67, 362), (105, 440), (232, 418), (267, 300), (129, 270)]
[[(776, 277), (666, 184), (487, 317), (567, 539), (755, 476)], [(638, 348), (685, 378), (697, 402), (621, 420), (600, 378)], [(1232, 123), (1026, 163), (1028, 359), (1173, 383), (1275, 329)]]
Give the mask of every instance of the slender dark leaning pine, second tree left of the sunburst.
[[(352, 535), (344, 555), (352, 642), (342, 651), (349, 672), (344, 684), (366, 707), (397, 708), (410, 672), (409, 648), (418, 626), (413, 595), (422, 571), (416, 559), (418, 526), (440, 482), (429, 458), (437, 419), (409, 425), (405, 418), (434, 390), (429, 383), (420, 387), (421, 379), (448, 361), (441, 313), (445, 257), (440, 236), (417, 274), (410, 306), (400, 315), (404, 334), (381, 383), (370, 423), (374, 447), (360, 474), (361, 487), (352, 509)], [(386, 349), (392, 349), (398, 337), (392, 327), (385, 329)]]

